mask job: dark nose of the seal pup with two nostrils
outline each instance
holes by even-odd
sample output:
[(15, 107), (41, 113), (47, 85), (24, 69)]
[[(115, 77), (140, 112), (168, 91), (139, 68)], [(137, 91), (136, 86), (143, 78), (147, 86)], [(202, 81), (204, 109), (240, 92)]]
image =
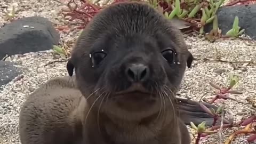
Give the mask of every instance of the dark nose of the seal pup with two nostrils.
[(132, 64), (126, 68), (125, 74), (132, 82), (143, 82), (149, 77), (149, 68), (143, 64)]

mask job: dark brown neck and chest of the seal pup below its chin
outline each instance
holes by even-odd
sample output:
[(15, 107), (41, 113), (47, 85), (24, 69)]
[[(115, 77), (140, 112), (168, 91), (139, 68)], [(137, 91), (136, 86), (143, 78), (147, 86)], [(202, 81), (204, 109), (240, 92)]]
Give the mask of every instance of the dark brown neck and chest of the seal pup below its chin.
[[(82, 116), (83, 143), (164, 144), (159, 140), (169, 137), (169, 134), (177, 132), (175, 129), (178, 129), (177, 113), (168, 107), (166, 107), (165, 113), (162, 111), (161, 115), (156, 113), (134, 121), (106, 113), (98, 114), (98, 110), (92, 110), (86, 119), (86, 114), (90, 108), (89, 105), (86, 105), (86, 100), (82, 100), (78, 108), (79, 113), (77, 115)], [(97, 139), (94, 138), (95, 135), (97, 135)]]

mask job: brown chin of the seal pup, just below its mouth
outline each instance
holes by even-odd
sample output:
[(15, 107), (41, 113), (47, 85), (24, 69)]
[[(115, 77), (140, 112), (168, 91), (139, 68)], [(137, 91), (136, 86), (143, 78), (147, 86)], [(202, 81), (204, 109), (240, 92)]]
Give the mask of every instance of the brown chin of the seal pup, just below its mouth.
[(128, 89), (111, 93), (102, 110), (115, 117), (138, 120), (158, 114), (162, 101), (154, 91), (133, 84)]

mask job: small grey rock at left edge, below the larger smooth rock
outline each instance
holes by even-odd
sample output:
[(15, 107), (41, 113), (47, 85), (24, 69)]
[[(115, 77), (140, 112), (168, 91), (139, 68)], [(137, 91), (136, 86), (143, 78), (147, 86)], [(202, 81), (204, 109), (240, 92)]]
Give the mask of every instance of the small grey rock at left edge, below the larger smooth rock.
[(14, 62), (0, 61), (0, 89), (3, 85), (9, 83), (22, 73), (21, 70), (14, 65)]

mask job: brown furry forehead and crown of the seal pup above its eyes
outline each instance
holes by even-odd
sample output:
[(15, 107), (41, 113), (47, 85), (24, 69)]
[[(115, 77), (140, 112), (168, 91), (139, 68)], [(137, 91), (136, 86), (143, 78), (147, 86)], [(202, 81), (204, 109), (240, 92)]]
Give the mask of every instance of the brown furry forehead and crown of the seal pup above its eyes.
[(131, 37), (138, 38), (137, 42), (141, 43), (154, 43), (152, 40), (157, 40), (160, 49), (172, 47), (179, 52), (179, 49), (186, 47), (180, 40), (180, 31), (169, 20), (153, 7), (134, 2), (114, 4), (103, 9), (80, 37), (77, 43), (83, 45), (80, 47), (86, 49), (84, 51), (111, 49), (122, 39)]

